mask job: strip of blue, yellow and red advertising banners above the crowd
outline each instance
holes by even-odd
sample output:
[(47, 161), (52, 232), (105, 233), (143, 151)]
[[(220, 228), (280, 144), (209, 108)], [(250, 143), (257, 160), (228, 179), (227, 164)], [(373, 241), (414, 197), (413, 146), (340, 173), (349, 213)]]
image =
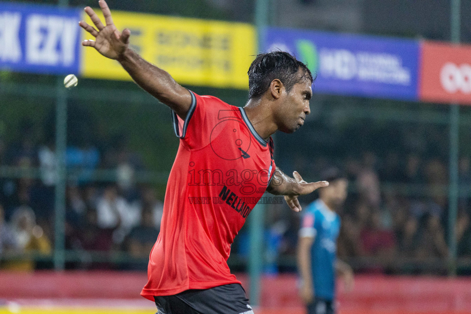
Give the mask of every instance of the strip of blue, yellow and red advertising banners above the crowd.
[[(179, 83), (248, 88), (257, 53), (252, 25), (122, 11), (113, 17), (119, 30), (131, 30), (131, 48)], [(92, 39), (82, 19), (92, 24), (81, 8), (0, 2), (0, 70), (131, 80), (117, 61), (81, 46)], [(471, 46), (268, 27), (259, 51), (273, 50), (308, 64), (317, 93), (471, 105)]]

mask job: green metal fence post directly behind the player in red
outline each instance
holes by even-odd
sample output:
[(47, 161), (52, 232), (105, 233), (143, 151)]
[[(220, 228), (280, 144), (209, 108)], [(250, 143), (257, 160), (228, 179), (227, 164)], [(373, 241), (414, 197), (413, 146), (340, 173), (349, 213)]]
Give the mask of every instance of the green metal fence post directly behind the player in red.
[[(260, 52), (263, 30), (268, 24), (269, 0), (257, 0), (255, 3), (255, 26), (257, 27), (258, 45), (257, 53)], [(263, 229), (265, 204), (257, 204), (249, 215), (250, 223), (250, 300), (254, 306), (260, 305), (260, 277), (263, 269)]]

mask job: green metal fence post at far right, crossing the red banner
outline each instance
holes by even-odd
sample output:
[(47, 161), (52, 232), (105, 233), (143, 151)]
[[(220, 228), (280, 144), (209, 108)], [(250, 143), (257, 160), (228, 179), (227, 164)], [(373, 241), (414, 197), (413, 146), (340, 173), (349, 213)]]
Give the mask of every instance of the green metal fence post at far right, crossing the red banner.
[[(460, 42), (460, 0), (451, 0), (451, 41)], [(450, 108), (450, 185), (448, 199), (448, 244), (450, 249), (450, 275), (456, 275), (456, 212), (458, 209), (458, 152), (459, 152), (460, 107)]]

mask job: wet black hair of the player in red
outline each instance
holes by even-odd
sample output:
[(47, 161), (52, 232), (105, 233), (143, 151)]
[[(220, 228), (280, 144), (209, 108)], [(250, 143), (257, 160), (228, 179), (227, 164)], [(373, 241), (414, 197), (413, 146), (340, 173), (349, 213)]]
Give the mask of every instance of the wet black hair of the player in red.
[[(299, 74), (301, 70), (301, 74)], [(289, 93), (294, 84), (309, 79), (314, 82), (306, 64), (284, 51), (258, 54), (250, 65), (249, 98), (258, 98), (267, 91), (273, 80), (280, 80)]]

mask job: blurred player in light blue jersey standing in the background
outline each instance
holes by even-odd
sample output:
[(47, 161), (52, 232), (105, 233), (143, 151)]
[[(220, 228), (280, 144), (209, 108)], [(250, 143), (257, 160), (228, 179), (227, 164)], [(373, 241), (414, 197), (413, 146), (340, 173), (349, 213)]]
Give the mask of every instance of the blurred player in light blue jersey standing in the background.
[(308, 314), (335, 313), (335, 275), (338, 272), (346, 290), (353, 288), (349, 265), (337, 259), (340, 217), (335, 212), (347, 197), (348, 181), (339, 169), (327, 169), (322, 180), (329, 186), (319, 190), (319, 198), (304, 209), (298, 242), (300, 296)]

